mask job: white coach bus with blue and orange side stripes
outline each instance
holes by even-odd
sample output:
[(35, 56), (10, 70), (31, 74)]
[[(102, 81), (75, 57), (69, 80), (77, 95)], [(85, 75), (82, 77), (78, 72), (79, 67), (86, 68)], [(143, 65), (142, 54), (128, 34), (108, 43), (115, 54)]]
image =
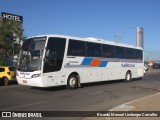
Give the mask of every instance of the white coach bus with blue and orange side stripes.
[(21, 85), (68, 89), (82, 83), (144, 75), (143, 49), (95, 38), (44, 35), (24, 40), (17, 66)]

